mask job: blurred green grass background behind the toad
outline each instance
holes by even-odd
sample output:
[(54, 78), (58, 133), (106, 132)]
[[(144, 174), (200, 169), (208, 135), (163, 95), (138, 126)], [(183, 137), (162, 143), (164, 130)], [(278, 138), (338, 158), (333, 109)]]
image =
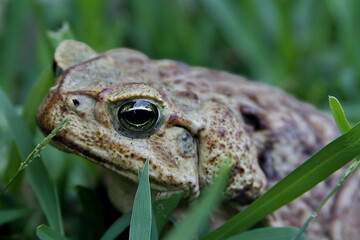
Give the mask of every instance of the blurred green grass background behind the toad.
[[(54, 51), (49, 31), (66, 22), (73, 38), (97, 51), (129, 47), (154, 59), (230, 71), (276, 85), (321, 108), (327, 108), (327, 96), (334, 95), (355, 121), (360, 118), (359, 9), (357, 0), (0, 0), (0, 88), (34, 130), (38, 98), (51, 84), (37, 81), (49, 78)], [(16, 149), (11, 144), (0, 116), (3, 182), (19, 162), (13, 160)], [(73, 204), (64, 218), (68, 225), (76, 224), (80, 210), (74, 201), (79, 197), (65, 189), (89, 182), (96, 188), (96, 171), (51, 148), (44, 155), (51, 158), (47, 166), (62, 206)], [(5, 205), (36, 205), (19, 196), (24, 185), (26, 181), (12, 190)], [(22, 237), (33, 236), (41, 214), (32, 219), (21, 223), (27, 229)], [(19, 224), (7, 226), (11, 232), (8, 228), (23, 229)], [(65, 228), (80, 236), (74, 227)]]

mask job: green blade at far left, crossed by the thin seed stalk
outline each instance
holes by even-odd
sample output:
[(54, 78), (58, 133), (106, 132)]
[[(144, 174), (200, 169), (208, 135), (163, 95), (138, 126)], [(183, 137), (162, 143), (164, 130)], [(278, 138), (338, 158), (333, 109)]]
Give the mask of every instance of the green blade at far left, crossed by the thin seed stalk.
[[(11, 134), (22, 159), (34, 149), (33, 138), (25, 127), (24, 122), (16, 114), (14, 106), (10, 103), (5, 93), (0, 89), (0, 109), (4, 114), (11, 129)], [(49, 225), (63, 233), (60, 204), (56, 191), (56, 185), (50, 179), (41, 158), (33, 162), (28, 168), (32, 187), (49, 222)]]

